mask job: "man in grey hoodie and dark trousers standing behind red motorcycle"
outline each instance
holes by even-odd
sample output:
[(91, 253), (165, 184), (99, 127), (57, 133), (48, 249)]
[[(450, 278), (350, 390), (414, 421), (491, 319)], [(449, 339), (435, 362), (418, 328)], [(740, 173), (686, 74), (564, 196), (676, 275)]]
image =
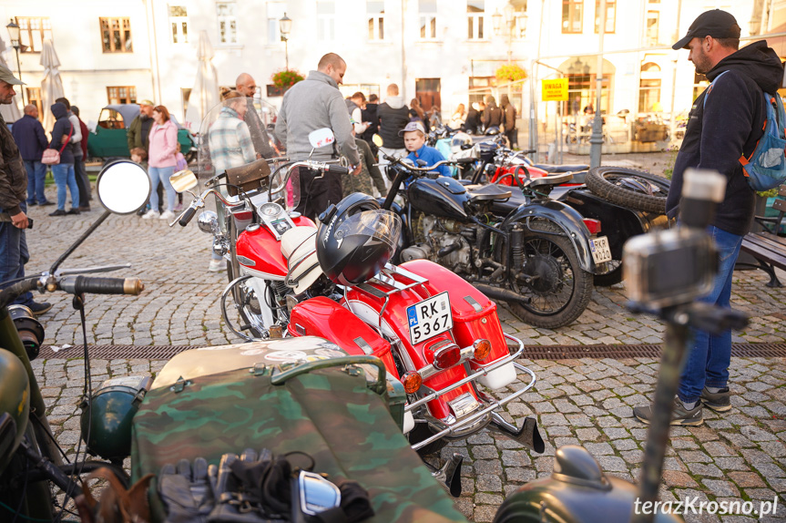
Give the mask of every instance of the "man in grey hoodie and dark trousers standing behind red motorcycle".
[[(314, 151), (311, 159), (327, 161), (341, 154), (352, 164), (352, 175), (361, 170), (361, 159), (352, 137), (352, 124), (347, 106), (339, 90), (347, 65), (341, 56), (328, 53), (322, 56), (316, 71), (298, 82), (284, 95), (279, 118), (276, 120), (276, 137), (287, 149), (287, 156), (298, 161), (308, 159), (311, 153), (309, 133), (319, 128), (331, 128), (336, 144)], [(316, 218), (331, 203), (342, 199), (341, 175), (326, 172), (321, 178), (317, 173), (300, 169), (300, 204), (296, 208), (303, 216)]]

